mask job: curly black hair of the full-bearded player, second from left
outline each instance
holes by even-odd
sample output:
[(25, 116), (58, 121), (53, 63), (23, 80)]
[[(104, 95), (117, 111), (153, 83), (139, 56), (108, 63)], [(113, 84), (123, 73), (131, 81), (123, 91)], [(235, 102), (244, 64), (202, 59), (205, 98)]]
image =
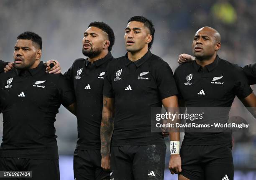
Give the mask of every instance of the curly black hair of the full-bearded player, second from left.
[(89, 27), (96, 27), (103, 30), (105, 33), (108, 34), (108, 40), (110, 41), (110, 45), (108, 46), (108, 51), (110, 52), (112, 50), (112, 47), (115, 43), (115, 34), (112, 28), (110, 28), (109, 25), (103, 22), (94, 21), (88, 25)]

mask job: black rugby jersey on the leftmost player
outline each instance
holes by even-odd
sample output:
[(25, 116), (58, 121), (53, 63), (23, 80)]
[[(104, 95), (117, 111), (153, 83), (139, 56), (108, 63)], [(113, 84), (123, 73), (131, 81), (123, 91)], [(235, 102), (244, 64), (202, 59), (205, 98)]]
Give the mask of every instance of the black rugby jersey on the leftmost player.
[(58, 159), (55, 117), (60, 104), (69, 106), (74, 100), (63, 75), (46, 73), (43, 62), (0, 74), (0, 157)]

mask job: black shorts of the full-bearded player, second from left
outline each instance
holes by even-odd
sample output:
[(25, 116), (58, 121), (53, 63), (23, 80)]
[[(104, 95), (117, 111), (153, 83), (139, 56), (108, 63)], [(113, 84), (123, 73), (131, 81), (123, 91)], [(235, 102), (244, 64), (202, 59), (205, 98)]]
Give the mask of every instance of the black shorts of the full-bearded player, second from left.
[(74, 151), (74, 178), (76, 180), (110, 179), (110, 172), (101, 168), (100, 150)]

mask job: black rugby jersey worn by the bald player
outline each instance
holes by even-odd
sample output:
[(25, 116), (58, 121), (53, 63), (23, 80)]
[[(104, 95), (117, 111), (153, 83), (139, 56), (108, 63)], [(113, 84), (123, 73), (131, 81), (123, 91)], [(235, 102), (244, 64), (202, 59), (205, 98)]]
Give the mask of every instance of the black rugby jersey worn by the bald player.
[[(252, 92), (243, 69), (218, 56), (205, 68), (202, 68), (196, 61), (184, 63), (177, 67), (174, 78), (179, 90), (179, 99), (184, 99), (186, 102), (188, 113), (193, 113), (189, 112), (189, 108), (193, 107), (231, 107), (235, 96), (243, 99)], [(225, 115), (221, 119), (214, 120), (227, 122), (228, 113)], [(185, 132), (182, 143), (184, 145), (214, 145), (231, 142), (231, 140), (231, 133), (228, 132)]]

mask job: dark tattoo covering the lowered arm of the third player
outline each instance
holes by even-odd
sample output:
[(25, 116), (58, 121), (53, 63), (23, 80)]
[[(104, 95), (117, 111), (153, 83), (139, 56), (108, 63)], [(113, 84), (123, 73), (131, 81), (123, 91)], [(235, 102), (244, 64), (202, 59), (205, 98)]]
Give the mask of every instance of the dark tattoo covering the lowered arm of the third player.
[(100, 124), (100, 152), (102, 157), (110, 155), (110, 141), (114, 129), (113, 102), (108, 99), (103, 97), (102, 120)]

